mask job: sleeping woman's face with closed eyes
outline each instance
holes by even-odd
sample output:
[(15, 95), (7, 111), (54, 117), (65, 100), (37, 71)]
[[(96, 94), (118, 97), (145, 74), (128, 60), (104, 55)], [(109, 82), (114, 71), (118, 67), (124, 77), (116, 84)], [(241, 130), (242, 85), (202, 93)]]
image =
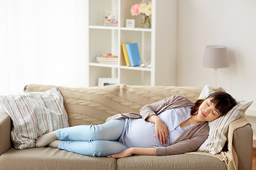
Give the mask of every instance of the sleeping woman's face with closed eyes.
[(207, 98), (198, 109), (198, 116), (203, 122), (213, 121), (221, 115), (220, 111), (215, 108), (215, 104), (210, 100), (211, 98)]

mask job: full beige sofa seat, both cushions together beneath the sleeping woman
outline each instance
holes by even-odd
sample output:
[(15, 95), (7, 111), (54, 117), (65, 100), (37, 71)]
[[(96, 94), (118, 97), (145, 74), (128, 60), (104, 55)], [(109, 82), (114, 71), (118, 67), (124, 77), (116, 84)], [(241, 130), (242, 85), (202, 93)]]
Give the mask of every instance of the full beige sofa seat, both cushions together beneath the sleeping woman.
[[(169, 159), (171, 158), (171, 159)], [(207, 164), (206, 164), (207, 162)], [(3, 169), (227, 169), (225, 162), (215, 157), (200, 154), (178, 154), (166, 157), (133, 156), (121, 159), (87, 157), (60, 149), (41, 147), (14, 149), (1, 154)]]

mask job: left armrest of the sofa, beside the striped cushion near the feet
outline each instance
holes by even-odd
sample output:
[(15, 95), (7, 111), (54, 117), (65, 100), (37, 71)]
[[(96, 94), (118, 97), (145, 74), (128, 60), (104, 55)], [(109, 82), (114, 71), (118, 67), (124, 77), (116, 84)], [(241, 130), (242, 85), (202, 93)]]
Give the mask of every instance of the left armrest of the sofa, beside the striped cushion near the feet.
[(0, 108), (0, 155), (11, 148), (11, 118)]

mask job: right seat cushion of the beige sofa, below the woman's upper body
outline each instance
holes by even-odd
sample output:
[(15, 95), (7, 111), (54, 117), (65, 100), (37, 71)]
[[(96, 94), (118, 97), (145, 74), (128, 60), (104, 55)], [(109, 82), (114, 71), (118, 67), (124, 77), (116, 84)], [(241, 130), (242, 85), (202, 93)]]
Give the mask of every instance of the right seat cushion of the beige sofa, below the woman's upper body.
[(196, 169), (222, 170), (227, 169), (225, 162), (215, 157), (199, 154), (176, 154), (171, 156), (133, 156), (117, 159), (117, 170), (166, 170)]

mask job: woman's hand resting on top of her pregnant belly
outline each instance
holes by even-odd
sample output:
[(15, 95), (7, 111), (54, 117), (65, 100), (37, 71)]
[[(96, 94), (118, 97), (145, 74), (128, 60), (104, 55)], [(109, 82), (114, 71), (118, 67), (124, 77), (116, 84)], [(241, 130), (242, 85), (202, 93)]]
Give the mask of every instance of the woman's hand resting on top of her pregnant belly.
[(147, 120), (151, 123), (155, 123), (156, 139), (160, 140), (161, 145), (166, 145), (168, 142), (169, 131), (163, 120), (157, 115), (151, 115)]

